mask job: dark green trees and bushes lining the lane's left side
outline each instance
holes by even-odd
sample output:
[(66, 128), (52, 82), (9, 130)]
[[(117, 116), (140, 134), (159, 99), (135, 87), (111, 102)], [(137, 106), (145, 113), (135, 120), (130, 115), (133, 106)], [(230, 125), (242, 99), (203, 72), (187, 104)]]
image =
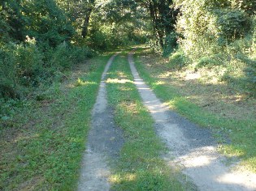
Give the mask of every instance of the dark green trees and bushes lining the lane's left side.
[(93, 55), (85, 43), (74, 43), (77, 33), (69, 14), (54, 0), (0, 2), (1, 97), (24, 97)]

